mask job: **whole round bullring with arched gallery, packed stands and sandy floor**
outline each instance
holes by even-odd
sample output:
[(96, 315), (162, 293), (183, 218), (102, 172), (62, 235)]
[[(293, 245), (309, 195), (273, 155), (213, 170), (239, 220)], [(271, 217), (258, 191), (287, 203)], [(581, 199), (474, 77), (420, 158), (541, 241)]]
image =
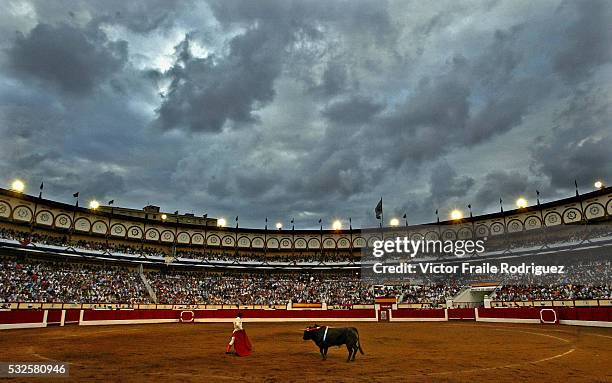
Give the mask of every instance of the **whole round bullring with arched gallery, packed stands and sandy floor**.
[[(72, 381), (612, 381), (611, 192), (406, 228), (261, 230), (0, 190), (1, 362), (66, 363)], [(398, 235), (487, 238), (464, 261), (568, 275), (361, 279), (364, 249)], [(239, 311), (246, 358), (224, 353)], [(314, 323), (358, 328), (365, 355), (322, 361), (302, 340)]]

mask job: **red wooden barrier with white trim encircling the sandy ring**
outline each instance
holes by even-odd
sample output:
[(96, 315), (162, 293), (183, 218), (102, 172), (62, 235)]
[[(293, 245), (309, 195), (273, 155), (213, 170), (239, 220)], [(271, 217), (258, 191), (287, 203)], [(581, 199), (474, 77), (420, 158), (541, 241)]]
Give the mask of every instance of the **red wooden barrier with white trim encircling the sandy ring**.
[[(238, 311), (245, 322), (377, 322), (376, 309), (283, 310), (283, 309), (35, 309), (0, 310), (0, 329), (39, 328), (49, 325), (113, 325), (144, 323), (229, 323)], [(612, 307), (521, 307), (478, 309), (388, 310), (391, 322), (547, 323), (572, 326), (612, 327)]]

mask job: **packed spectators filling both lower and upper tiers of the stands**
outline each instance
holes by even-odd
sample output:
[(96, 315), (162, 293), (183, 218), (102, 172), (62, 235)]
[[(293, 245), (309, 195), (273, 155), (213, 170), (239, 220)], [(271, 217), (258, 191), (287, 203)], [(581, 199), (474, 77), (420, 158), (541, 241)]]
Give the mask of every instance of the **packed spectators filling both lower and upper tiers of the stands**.
[[(528, 248), (543, 243), (570, 243), (611, 236), (611, 225), (562, 227), (555, 231), (500, 236), (493, 244), (500, 248)], [(143, 257), (168, 256), (162, 247), (130, 244), (127, 241), (71, 239), (67, 234), (30, 233), (0, 228), (0, 238), (23, 245), (73, 247), (105, 253), (133, 254)], [(542, 242), (544, 241), (544, 242)], [(127, 243), (126, 243), (127, 242)], [(169, 247), (165, 248), (166, 250)], [(487, 247), (489, 249), (489, 247)], [(348, 253), (306, 253), (296, 255), (261, 254), (204, 249), (178, 249), (179, 258), (222, 262), (352, 262)], [(551, 256), (550, 260), (554, 261)], [(587, 300), (612, 299), (612, 265), (608, 258), (567, 262), (566, 274), (543, 276), (480, 275), (480, 281), (497, 281), (493, 300)], [(546, 256), (539, 255), (540, 263)], [(116, 266), (74, 262), (48, 262), (0, 256), (0, 303), (152, 303), (138, 271)], [(573, 263), (573, 264), (572, 264)], [(169, 269), (171, 270), (171, 269)], [(174, 269), (175, 270), (175, 269)], [(474, 282), (453, 279), (413, 279), (387, 285), (366, 283), (355, 274), (344, 273), (210, 273), (188, 271), (151, 271), (145, 273), (160, 304), (245, 304), (284, 305), (326, 302), (328, 305), (371, 304), (381, 295), (395, 296), (403, 303), (444, 304), (462, 288)]]

